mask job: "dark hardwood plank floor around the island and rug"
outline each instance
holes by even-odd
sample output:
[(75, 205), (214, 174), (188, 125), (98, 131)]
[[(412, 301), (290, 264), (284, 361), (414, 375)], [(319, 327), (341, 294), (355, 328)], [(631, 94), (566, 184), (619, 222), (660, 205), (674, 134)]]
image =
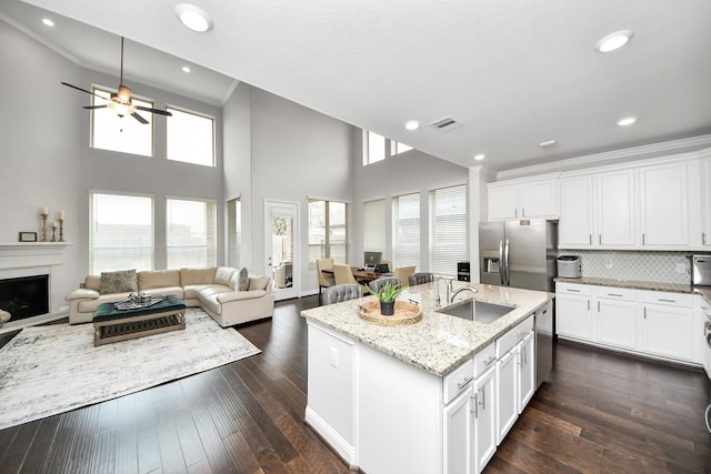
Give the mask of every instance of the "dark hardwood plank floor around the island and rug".
[[(240, 327), (259, 355), (0, 431), (0, 473), (348, 472), (302, 422), (299, 311), (316, 304), (280, 302), (271, 321)], [(702, 371), (564, 341), (554, 357), (487, 473), (710, 472)]]

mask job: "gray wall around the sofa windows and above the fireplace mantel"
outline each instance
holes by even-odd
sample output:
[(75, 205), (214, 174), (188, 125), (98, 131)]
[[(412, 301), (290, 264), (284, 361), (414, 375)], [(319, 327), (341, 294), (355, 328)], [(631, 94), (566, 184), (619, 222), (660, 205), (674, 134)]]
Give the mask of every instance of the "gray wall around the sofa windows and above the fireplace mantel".
[[(152, 194), (156, 199), (156, 262), (164, 268), (164, 198), (200, 198), (218, 202), (224, 213), (222, 181), (221, 108), (171, 94), (126, 78), (137, 95), (149, 97), (156, 107), (180, 107), (217, 119), (218, 167), (171, 162), (166, 155), (166, 119), (154, 119), (154, 158), (128, 155), (89, 147), (90, 113), (82, 105), (92, 84), (116, 88), (118, 78), (78, 67), (13, 27), (0, 21), (0, 242), (17, 242), (20, 231), (40, 231), (39, 210), (50, 209), (50, 220), (66, 212), (64, 264), (52, 284), (52, 309), (88, 272), (89, 191)], [(126, 120), (133, 120), (127, 118)], [(219, 220), (218, 235), (223, 234)], [(219, 240), (218, 262), (223, 260)]]

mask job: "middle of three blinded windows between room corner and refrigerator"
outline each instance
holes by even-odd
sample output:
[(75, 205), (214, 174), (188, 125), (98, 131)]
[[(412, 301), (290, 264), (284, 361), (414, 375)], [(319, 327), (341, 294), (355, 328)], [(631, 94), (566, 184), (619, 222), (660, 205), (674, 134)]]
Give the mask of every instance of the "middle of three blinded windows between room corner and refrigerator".
[(392, 255), (395, 266), (420, 266), (420, 194), (392, 198)]

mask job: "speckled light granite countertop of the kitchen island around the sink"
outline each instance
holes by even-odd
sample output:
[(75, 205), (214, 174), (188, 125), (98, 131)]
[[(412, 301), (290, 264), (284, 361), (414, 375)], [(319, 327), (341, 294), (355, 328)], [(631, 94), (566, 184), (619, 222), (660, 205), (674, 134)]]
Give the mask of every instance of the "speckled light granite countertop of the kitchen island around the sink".
[[(398, 299), (417, 302), (422, 307), (422, 321), (412, 325), (381, 326), (362, 321), (358, 316), (358, 306), (377, 301), (374, 295), (304, 310), (301, 315), (310, 323), (328, 327), (433, 375), (443, 376), (554, 296), (553, 293), (539, 291), (453, 283), (454, 291), (463, 286), (478, 290), (473, 294), (474, 300), (515, 307), (490, 324), (438, 313), (438, 294), (442, 305), (447, 306), (445, 284), (433, 282), (410, 286)], [(463, 292), (455, 301), (471, 297), (471, 292)]]

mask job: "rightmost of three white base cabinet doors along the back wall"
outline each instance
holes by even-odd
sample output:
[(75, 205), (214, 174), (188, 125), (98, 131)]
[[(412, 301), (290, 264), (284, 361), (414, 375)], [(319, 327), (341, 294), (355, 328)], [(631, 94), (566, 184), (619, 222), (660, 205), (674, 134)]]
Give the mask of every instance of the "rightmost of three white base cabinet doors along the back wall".
[(693, 359), (693, 310), (645, 304), (642, 319), (642, 350), (654, 355)]

